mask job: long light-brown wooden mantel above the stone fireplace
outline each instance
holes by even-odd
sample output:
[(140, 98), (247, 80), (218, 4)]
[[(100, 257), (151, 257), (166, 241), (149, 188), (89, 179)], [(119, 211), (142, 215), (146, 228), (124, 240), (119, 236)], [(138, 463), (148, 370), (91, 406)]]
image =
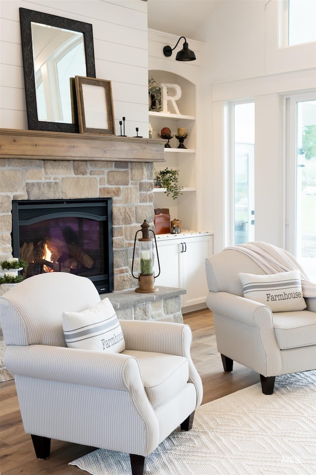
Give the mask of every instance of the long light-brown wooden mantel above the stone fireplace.
[(161, 139), (14, 129), (0, 129), (0, 158), (165, 161)]

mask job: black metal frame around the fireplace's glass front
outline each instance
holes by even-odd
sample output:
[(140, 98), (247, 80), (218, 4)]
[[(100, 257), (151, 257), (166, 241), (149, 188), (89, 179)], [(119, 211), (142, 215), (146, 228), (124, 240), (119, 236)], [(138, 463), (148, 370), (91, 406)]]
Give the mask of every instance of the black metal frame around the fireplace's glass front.
[[(63, 209), (67, 205), (67, 212), (43, 214), (45, 209)], [(33, 211), (32, 211), (33, 210)], [(88, 212), (87, 212), (88, 211)], [(74, 200), (19, 200), (12, 201), (12, 255), (20, 257), (20, 233), (19, 223), (32, 224), (45, 219), (63, 216), (82, 217), (104, 221), (104, 233), (108, 240), (108, 247), (104, 248), (106, 270), (105, 274), (89, 276), (99, 294), (113, 292), (114, 289), (114, 269), (113, 269), (113, 220), (112, 220), (112, 198), (91, 198)], [(24, 220), (23, 215), (28, 214), (28, 219)]]

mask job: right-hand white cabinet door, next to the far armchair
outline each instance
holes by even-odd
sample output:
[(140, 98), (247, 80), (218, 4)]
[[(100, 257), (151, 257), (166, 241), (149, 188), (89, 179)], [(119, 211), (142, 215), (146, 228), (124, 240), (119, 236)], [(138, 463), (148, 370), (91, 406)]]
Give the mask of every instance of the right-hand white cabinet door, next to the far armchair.
[[(204, 303), (208, 294), (205, 259), (212, 250), (212, 236), (197, 236), (183, 241), (184, 249), (180, 253), (180, 287), (186, 289), (183, 306)], [(182, 248), (181, 248), (182, 250)]]

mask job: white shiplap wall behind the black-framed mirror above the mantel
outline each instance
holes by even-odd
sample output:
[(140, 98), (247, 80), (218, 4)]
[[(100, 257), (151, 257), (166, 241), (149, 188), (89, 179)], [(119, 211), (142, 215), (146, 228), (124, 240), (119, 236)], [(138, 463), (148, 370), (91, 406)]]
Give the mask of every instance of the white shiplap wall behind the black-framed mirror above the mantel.
[(0, 0), (0, 128), (28, 129), (19, 8), (91, 23), (96, 77), (112, 82), (116, 133), (148, 137), (147, 3), (140, 0)]

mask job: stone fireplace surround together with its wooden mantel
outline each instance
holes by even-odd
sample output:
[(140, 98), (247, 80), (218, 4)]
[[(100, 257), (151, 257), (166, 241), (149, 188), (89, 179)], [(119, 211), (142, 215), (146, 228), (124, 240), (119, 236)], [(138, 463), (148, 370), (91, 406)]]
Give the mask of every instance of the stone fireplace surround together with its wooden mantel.
[(12, 252), (12, 201), (112, 198), (114, 291), (134, 288), (134, 236), (154, 220), (156, 161), (164, 161), (162, 140), (1, 129), (1, 259)]

